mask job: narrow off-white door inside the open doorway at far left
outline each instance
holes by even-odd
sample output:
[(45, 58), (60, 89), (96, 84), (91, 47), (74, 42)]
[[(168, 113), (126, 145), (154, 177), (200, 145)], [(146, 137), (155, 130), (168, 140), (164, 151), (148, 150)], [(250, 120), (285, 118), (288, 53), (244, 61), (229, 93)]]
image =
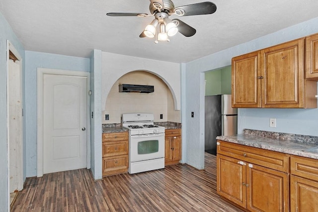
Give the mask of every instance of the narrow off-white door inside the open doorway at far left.
[(20, 62), (9, 60), (8, 69), (8, 145), (9, 192), (23, 188), (22, 165), (22, 74)]

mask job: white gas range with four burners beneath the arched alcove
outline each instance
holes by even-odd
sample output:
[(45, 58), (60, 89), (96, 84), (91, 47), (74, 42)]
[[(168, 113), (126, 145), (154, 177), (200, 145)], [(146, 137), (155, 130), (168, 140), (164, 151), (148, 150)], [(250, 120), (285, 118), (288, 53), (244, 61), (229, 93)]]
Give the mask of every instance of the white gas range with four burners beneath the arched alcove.
[(154, 125), (154, 114), (123, 114), (122, 126), (129, 129), (128, 172), (164, 168), (164, 127)]

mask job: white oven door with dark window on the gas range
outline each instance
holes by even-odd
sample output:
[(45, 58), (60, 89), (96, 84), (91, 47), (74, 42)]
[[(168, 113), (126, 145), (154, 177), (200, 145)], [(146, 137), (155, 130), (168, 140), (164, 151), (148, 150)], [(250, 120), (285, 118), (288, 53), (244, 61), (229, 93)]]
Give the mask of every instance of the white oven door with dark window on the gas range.
[(130, 136), (130, 162), (164, 157), (164, 133)]

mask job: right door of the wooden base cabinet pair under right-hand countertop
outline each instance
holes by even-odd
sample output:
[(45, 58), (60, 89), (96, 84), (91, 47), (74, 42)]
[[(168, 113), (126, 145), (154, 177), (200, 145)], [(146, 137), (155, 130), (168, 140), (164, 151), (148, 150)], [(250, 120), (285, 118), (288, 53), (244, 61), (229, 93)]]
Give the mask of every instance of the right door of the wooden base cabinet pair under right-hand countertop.
[(288, 212), (288, 174), (248, 164), (246, 171), (247, 210), (252, 212)]

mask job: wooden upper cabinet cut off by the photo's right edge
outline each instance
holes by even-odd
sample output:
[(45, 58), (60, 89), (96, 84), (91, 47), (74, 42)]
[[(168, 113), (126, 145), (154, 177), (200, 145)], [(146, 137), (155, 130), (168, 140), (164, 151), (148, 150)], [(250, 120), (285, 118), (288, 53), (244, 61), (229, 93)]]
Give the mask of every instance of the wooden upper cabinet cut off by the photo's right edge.
[(318, 80), (318, 33), (306, 37), (306, 78)]

